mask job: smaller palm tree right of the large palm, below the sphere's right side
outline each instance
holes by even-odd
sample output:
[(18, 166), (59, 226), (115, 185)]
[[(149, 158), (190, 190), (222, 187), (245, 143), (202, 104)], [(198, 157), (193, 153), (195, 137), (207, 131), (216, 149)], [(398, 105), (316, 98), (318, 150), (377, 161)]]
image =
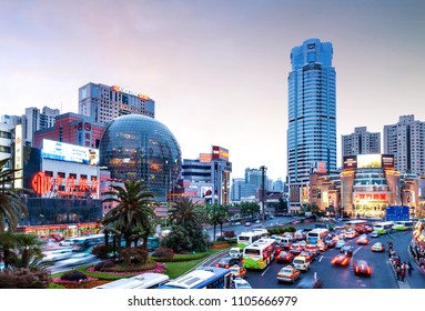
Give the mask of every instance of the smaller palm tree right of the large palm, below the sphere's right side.
[(200, 227), (203, 218), (199, 204), (191, 198), (183, 197), (181, 201), (173, 202), (169, 210), (169, 219), (182, 227), (190, 224)]

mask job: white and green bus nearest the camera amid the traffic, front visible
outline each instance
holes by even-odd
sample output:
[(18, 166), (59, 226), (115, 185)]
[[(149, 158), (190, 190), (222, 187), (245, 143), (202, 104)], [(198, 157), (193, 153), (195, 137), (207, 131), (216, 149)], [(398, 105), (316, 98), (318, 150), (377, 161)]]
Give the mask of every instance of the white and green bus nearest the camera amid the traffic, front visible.
[(260, 239), (243, 250), (242, 265), (246, 269), (265, 269), (274, 259), (274, 239)]

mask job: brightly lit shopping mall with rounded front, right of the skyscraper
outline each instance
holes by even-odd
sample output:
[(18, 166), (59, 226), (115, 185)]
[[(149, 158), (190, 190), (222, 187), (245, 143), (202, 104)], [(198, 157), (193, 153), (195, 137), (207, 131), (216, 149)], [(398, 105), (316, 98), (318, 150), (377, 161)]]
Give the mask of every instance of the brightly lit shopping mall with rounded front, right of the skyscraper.
[(303, 194), (330, 214), (385, 218), (387, 207), (407, 205), (411, 217), (423, 217), (425, 177), (395, 171), (392, 154), (358, 154), (344, 158), (340, 174), (312, 171)]

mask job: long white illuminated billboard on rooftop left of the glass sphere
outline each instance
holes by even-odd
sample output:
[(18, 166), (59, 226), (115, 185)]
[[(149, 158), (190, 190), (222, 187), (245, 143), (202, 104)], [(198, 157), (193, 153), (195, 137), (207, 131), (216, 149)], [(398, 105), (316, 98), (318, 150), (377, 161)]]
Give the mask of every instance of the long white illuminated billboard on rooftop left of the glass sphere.
[(42, 149), (43, 159), (52, 159), (59, 161), (98, 165), (99, 150), (93, 148), (81, 147), (77, 144), (64, 143), (43, 139)]

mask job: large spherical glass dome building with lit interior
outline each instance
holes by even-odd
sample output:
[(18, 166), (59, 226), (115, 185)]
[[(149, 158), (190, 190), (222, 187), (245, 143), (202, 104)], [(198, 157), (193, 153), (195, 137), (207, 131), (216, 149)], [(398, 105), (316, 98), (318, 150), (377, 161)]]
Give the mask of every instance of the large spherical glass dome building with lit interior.
[(100, 165), (121, 181), (144, 180), (156, 200), (175, 187), (181, 171), (181, 150), (173, 133), (158, 120), (128, 114), (111, 121), (99, 146)]

